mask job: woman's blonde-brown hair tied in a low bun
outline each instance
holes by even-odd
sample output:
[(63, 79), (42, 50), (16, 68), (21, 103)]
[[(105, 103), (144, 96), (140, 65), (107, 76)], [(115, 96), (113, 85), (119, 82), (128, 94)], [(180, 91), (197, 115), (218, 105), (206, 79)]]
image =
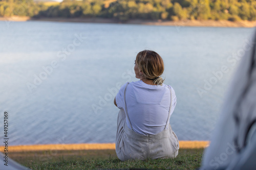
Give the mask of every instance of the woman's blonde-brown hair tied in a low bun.
[(143, 72), (145, 79), (153, 80), (153, 84), (162, 85), (164, 64), (163, 59), (154, 51), (144, 50), (137, 54), (136, 63)]

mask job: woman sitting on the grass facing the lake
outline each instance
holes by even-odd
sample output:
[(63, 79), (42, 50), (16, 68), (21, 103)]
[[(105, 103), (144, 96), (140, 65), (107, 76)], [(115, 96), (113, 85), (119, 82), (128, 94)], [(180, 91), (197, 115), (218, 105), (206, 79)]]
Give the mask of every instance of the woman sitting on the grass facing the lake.
[(175, 158), (179, 141), (169, 124), (176, 106), (174, 89), (163, 84), (164, 64), (154, 51), (139, 52), (137, 82), (124, 84), (114, 104), (117, 118), (116, 153), (120, 160)]

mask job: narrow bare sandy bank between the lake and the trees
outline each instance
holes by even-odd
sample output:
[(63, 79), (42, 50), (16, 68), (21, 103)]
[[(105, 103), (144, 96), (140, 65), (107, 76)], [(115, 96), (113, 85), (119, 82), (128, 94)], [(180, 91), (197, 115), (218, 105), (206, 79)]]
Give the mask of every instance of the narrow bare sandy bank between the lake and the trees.
[(131, 19), (119, 21), (112, 18), (33, 18), (33, 17), (0, 17), (0, 21), (55, 21), (55, 22), (82, 22), (82, 23), (119, 23), (134, 25), (153, 25), (153, 26), (175, 26), (175, 27), (233, 27), (233, 28), (252, 28), (256, 26), (256, 21), (229, 21), (229, 20), (142, 20)]

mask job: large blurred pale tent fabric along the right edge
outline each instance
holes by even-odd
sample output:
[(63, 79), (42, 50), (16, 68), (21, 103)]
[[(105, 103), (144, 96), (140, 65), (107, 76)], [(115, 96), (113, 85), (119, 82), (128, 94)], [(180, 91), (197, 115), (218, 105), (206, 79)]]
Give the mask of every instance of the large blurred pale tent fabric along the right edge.
[(254, 30), (237, 52), (244, 55), (226, 93), (201, 170), (256, 168), (255, 36)]

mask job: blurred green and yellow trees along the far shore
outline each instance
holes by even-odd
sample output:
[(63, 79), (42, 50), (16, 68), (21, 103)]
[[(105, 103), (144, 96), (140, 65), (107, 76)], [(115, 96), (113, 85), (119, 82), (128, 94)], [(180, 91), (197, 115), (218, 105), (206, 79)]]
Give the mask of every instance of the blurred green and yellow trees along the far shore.
[(0, 0), (0, 17), (101, 17), (162, 20), (256, 20), (254, 0)]

